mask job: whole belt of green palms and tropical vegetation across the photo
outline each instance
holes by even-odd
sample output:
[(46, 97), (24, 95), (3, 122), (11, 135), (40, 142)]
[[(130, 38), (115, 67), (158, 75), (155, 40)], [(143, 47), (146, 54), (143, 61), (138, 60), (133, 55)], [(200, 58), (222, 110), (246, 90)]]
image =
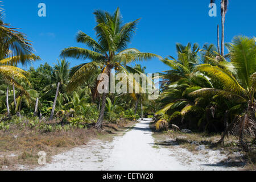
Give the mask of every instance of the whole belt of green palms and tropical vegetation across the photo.
[[(114, 14), (96, 10), (95, 40), (79, 31), (76, 41), (85, 48), (63, 48), (55, 65), (44, 63), (27, 71), (18, 66), (40, 57), (34, 55), (25, 34), (3, 23), (0, 9), (0, 130), (22, 126), (21, 121), (26, 121), (24, 127), (43, 133), (88, 127), (100, 130), (105, 123), (148, 117), (155, 119), (159, 131), (175, 126), (222, 133), (217, 144), (233, 134), (243, 150), (250, 150), (256, 135), (256, 39), (236, 36), (224, 44), (227, 7), (228, 1), (221, 1), (221, 48), (209, 43), (202, 47), (177, 43), (177, 56), (165, 58), (140, 52), (128, 48), (139, 19), (123, 23), (119, 8)], [(84, 63), (70, 67), (69, 58)], [(148, 100), (146, 93), (98, 93), (97, 88), (105, 81), (103, 76), (98, 79), (101, 73), (146, 76), (145, 67), (132, 63), (152, 58), (170, 68), (158, 72), (157, 100)], [(132, 86), (142, 90), (140, 85), (141, 81), (134, 81)]]

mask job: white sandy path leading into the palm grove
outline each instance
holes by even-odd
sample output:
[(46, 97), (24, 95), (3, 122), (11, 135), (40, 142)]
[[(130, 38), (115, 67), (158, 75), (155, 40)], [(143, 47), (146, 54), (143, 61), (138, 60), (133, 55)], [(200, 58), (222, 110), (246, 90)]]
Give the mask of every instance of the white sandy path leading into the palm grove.
[[(212, 154), (195, 155), (179, 146), (156, 147), (149, 123), (150, 119), (137, 123), (113, 142), (92, 140), (55, 155), (51, 164), (34, 170), (236, 170), (210, 164)], [(226, 157), (218, 153), (214, 156), (211, 161), (216, 163)]]

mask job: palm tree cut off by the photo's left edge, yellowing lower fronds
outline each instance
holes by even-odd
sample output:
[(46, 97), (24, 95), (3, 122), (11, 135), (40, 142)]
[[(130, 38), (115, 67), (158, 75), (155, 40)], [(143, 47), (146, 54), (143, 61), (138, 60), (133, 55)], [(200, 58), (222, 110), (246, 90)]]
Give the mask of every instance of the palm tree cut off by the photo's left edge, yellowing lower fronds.
[[(0, 5), (1, 5), (0, 1)], [(16, 67), (18, 63), (26, 65), (40, 59), (38, 56), (32, 55), (32, 47), (26, 35), (16, 31), (16, 28), (10, 27), (10, 24), (3, 23), (4, 11), (0, 7), (0, 75), (3, 81), (13, 85), (24, 93), (29, 95), (26, 90), (18, 83), (18, 80), (24, 79), (28, 82), (27, 72)], [(7, 93), (8, 95), (8, 93)], [(16, 100), (14, 99), (14, 102)], [(10, 117), (9, 103), (7, 104), (7, 113)]]

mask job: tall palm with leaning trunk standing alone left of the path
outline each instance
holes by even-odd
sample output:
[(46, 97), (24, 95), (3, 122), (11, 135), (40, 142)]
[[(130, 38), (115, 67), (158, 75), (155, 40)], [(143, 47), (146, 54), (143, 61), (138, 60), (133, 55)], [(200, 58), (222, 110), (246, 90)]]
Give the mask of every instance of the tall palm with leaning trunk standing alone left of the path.
[[(68, 91), (76, 89), (77, 86), (84, 83), (84, 80), (92, 71), (97, 68), (102, 68), (101, 73), (105, 73), (110, 76), (111, 69), (119, 69), (124, 73), (128, 73), (124, 68), (124, 65), (131, 63), (136, 60), (147, 60), (152, 57), (159, 57), (153, 53), (142, 53), (135, 48), (127, 48), (127, 43), (130, 42), (139, 19), (134, 20), (130, 23), (122, 24), (122, 16), (120, 14), (119, 8), (112, 15), (106, 11), (96, 10), (94, 11), (96, 17), (96, 31), (97, 40), (94, 40), (89, 35), (80, 31), (77, 34), (77, 42), (85, 43), (91, 50), (79, 47), (69, 47), (65, 48), (61, 52), (63, 57), (73, 57), (76, 59), (89, 59), (89, 63), (84, 63), (77, 66), (77, 71), (71, 78), (68, 84)], [(97, 82), (100, 84), (104, 81), (101, 78)], [(97, 88), (97, 87), (96, 87)], [(97, 91), (94, 94), (94, 98), (97, 96)], [(95, 125), (97, 129), (102, 127), (102, 119), (104, 117), (106, 105), (106, 93), (102, 95), (102, 105), (98, 121)]]

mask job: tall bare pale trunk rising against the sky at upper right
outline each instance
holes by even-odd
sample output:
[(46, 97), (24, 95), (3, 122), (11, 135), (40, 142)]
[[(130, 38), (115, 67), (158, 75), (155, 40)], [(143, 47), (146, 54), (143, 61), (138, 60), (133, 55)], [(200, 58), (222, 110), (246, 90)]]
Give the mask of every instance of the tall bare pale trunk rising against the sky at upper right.
[[(210, 3), (214, 3), (215, 0), (210, 0)], [(224, 31), (225, 31), (225, 16), (228, 11), (228, 0), (221, 0), (221, 56), (224, 56)]]

